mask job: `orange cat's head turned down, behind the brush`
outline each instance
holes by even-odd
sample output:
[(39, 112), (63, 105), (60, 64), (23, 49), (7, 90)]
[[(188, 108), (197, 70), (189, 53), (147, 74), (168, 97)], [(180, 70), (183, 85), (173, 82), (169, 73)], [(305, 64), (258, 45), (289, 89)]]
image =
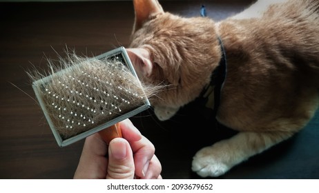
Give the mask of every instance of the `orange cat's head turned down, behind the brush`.
[(157, 0), (135, 0), (128, 55), (144, 83), (166, 85), (150, 99), (158, 119), (171, 118), (209, 83), (220, 60), (215, 24), (164, 12)]

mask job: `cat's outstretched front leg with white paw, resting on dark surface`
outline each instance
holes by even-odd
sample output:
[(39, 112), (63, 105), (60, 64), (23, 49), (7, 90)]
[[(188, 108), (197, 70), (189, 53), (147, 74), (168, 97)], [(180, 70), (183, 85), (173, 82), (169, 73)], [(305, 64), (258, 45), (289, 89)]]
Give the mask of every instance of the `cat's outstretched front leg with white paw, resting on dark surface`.
[(192, 170), (202, 177), (220, 176), (250, 156), (266, 150), (291, 135), (283, 132), (240, 132), (230, 139), (219, 141), (198, 151), (193, 158)]

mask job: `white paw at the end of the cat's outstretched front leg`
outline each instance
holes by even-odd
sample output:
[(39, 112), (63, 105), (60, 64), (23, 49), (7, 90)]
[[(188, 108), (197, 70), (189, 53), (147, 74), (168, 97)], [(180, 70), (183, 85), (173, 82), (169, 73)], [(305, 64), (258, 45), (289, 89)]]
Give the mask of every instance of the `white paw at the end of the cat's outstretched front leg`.
[(213, 147), (200, 150), (193, 157), (192, 170), (199, 176), (217, 177), (226, 173), (231, 167), (222, 161)]

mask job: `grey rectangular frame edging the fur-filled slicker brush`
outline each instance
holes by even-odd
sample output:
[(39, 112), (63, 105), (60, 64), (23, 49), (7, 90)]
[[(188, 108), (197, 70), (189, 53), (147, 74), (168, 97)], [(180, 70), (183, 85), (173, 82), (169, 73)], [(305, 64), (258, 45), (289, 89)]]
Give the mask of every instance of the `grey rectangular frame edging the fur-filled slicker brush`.
[[(131, 63), (131, 59), (128, 57), (128, 54), (126, 52), (126, 49), (122, 46), (119, 48), (116, 48), (114, 50), (110, 50), (104, 54), (100, 54), (99, 56), (95, 57), (95, 59), (106, 59), (106, 58), (111, 58), (111, 57), (121, 57), (124, 61), (124, 65), (128, 67), (129, 70), (131, 70), (132, 74), (137, 78), (139, 85), (142, 88), (142, 84), (140, 83), (137, 74), (133, 68), (133, 65)], [(75, 64), (77, 65), (77, 64)], [(70, 68), (75, 68), (75, 65), (72, 65)], [(59, 72), (55, 72), (54, 74), (49, 75), (48, 77), (44, 77), (43, 79), (39, 79), (37, 81), (34, 81), (32, 83), (32, 88), (35, 91), (35, 96), (37, 96), (37, 100), (39, 101), (39, 105), (41, 106), (41, 109), (43, 110), (44, 116), (46, 116), (46, 120), (48, 121), (48, 124), (52, 130), (53, 135), (55, 136), (55, 139), (57, 141), (57, 144), (60, 147), (65, 147), (67, 145), (70, 145), (72, 143), (75, 143), (76, 141), (79, 141), (81, 139), (86, 138), (87, 136), (90, 136), (91, 134), (95, 134), (95, 132), (99, 132), (101, 130), (104, 130), (111, 125), (114, 125), (115, 123), (118, 123), (119, 121), (123, 121), (124, 119), (128, 119), (131, 116), (135, 116), (136, 114), (139, 114), (140, 112), (143, 112), (144, 110), (147, 110), (148, 108), (151, 107), (150, 102), (148, 101), (146, 95), (144, 97), (144, 104), (135, 108), (134, 110), (131, 110), (129, 112), (126, 112), (125, 114), (117, 116), (115, 119), (112, 119), (106, 123), (103, 123), (101, 125), (97, 125), (97, 127), (92, 128), (90, 130), (87, 130), (85, 132), (81, 132), (75, 136), (72, 136), (68, 139), (62, 139), (60, 136), (59, 132), (55, 129), (55, 125), (52, 123), (52, 120), (50, 118), (50, 115), (48, 114), (48, 110), (46, 110), (46, 105), (43, 101), (43, 98), (41, 97), (40, 94), (40, 87), (46, 82), (49, 82), (53, 76), (59, 76), (59, 74), (64, 73), (66, 69), (60, 70)]]

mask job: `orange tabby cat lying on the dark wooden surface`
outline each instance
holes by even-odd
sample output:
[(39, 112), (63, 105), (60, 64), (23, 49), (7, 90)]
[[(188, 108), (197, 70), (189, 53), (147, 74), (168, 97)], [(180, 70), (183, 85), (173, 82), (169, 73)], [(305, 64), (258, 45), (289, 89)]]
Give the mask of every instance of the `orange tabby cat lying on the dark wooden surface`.
[(192, 169), (200, 176), (220, 176), (288, 139), (318, 108), (319, 1), (276, 2), (258, 1), (215, 23), (134, 1), (128, 52), (135, 70), (144, 82), (170, 85), (151, 99), (160, 120), (200, 96), (222, 58), (222, 39), (227, 74), (217, 119), (239, 133), (195, 154)]

